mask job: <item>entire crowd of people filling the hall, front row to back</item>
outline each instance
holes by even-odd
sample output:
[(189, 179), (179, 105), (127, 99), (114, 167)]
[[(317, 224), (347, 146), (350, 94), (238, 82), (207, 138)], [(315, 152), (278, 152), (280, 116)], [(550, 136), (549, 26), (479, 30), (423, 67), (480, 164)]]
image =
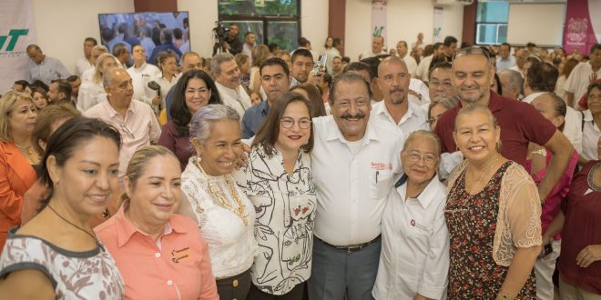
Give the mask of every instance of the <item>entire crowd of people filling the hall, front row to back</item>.
[(86, 38), (75, 75), (28, 45), (0, 295), (601, 298), (600, 44), (258, 42)]

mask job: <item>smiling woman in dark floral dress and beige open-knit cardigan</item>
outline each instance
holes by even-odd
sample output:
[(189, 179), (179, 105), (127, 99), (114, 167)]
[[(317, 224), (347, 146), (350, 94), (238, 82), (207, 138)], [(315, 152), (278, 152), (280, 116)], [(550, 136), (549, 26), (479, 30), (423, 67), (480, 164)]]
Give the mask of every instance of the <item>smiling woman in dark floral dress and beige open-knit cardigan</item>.
[(462, 108), (453, 139), (465, 160), (449, 177), (449, 299), (535, 299), (541, 203), (525, 169), (499, 154), (501, 129), (484, 106)]

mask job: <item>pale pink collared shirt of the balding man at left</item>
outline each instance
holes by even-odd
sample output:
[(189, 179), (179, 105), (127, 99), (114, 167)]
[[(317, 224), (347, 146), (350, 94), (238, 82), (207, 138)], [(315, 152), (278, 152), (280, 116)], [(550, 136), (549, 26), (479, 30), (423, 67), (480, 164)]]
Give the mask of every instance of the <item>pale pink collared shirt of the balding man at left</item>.
[(113, 125), (121, 134), (119, 151), (119, 182), (126, 174), (127, 164), (134, 153), (150, 142), (157, 143), (160, 125), (152, 108), (145, 103), (131, 100), (125, 119), (107, 101), (103, 101), (84, 112), (84, 116), (96, 117)]

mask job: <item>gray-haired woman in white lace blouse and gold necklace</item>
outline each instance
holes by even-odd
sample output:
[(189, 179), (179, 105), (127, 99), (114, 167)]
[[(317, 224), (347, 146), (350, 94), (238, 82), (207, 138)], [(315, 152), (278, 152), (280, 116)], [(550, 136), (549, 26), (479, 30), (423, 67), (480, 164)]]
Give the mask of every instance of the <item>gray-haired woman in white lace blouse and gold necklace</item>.
[(196, 155), (181, 175), (181, 189), (209, 243), (220, 299), (246, 299), (256, 250), (254, 207), (231, 176), (243, 152), (240, 135), (239, 115), (231, 107), (202, 107), (190, 122)]

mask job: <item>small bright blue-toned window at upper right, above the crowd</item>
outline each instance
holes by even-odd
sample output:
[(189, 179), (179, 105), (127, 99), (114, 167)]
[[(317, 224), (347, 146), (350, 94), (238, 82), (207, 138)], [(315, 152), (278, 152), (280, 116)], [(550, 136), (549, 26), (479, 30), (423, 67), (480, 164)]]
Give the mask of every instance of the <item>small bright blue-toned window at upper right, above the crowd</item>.
[(507, 41), (509, 4), (505, 1), (478, 1), (476, 7), (476, 44), (501, 45)]

